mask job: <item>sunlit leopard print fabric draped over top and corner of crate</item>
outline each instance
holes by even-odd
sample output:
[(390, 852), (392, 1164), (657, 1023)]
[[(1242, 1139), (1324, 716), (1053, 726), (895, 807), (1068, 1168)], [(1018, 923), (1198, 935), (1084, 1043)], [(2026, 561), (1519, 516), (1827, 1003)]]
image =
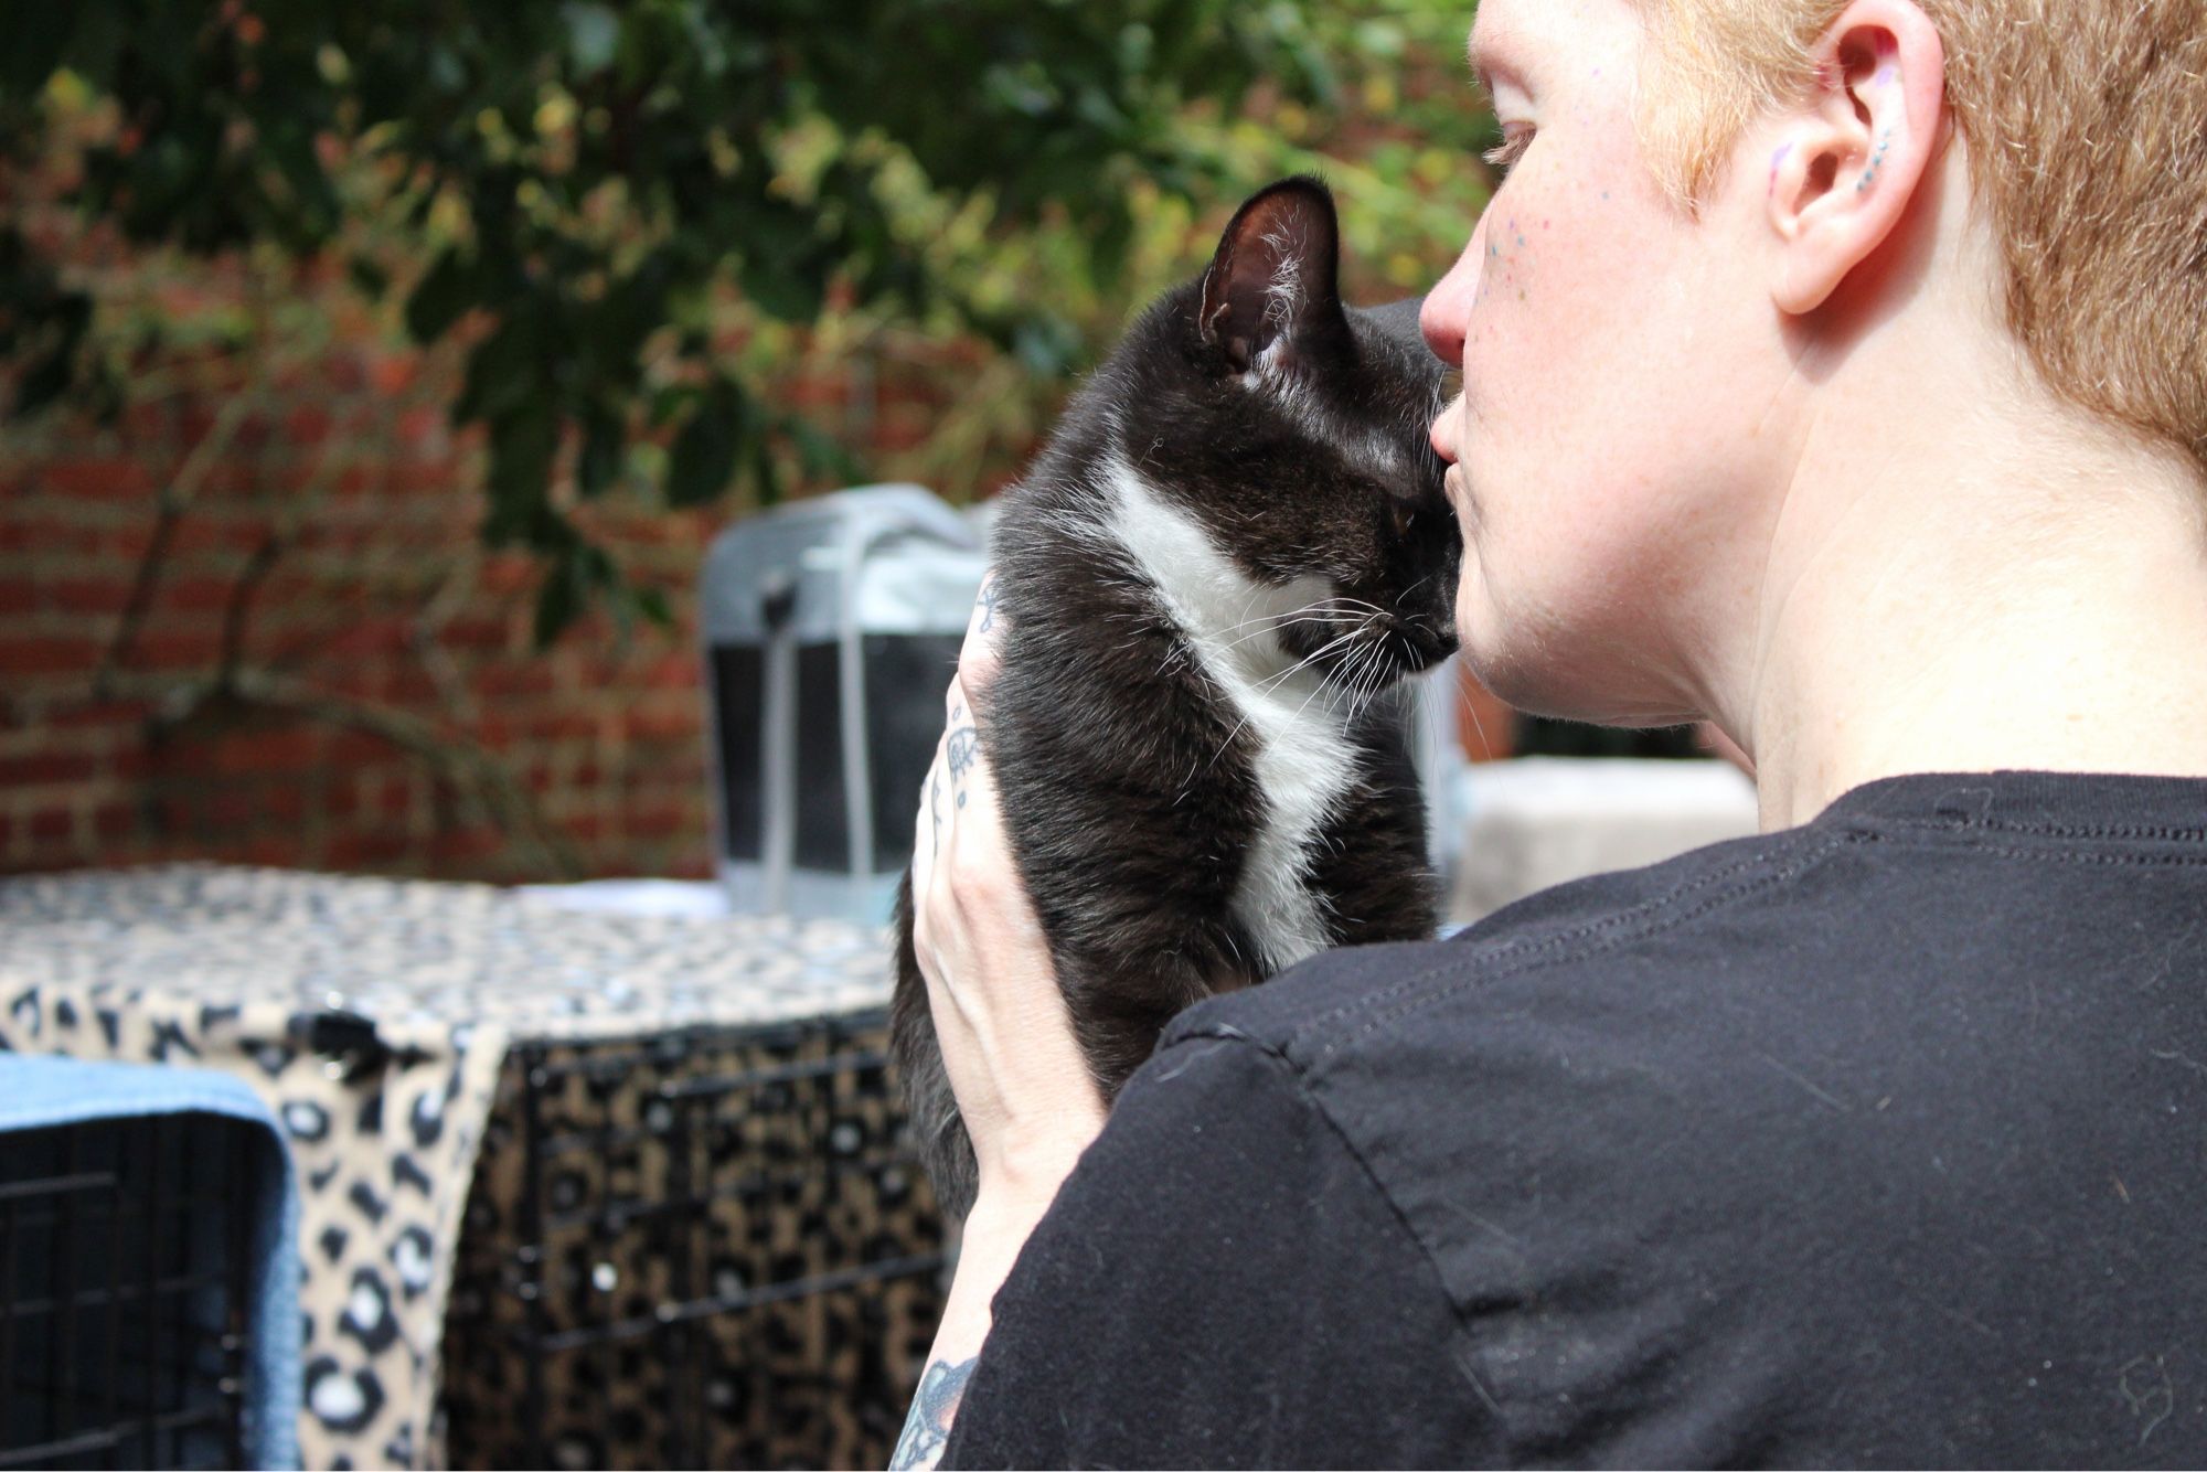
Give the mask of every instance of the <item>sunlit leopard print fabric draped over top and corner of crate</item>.
[[(29, 876), (0, 881), (0, 1046), (223, 1068), (282, 1119), (302, 1192), (309, 1468), (446, 1459), (437, 1419), (446, 1304), (486, 1137), (490, 1185), (475, 1194), (483, 1220), (516, 1223), (512, 1203), (525, 1198), (510, 1174), (516, 1059), (697, 1028), (737, 1037), (887, 1002), (881, 931), (572, 914), (488, 885), (210, 865)], [(614, 1117), (644, 1108), (638, 1101), (658, 1081), (640, 1075), (633, 1099), (607, 1108)], [(775, 1148), (801, 1152), (803, 1130), (832, 1132), (834, 1119), (792, 1128)], [(764, 1132), (764, 1123), (722, 1130), (724, 1161), (766, 1145)], [(614, 1170), (611, 1156), (563, 1190), (644, 1201), (667, 1187), (591, 1174), (603, 1170)], [(731, 1231), (761, 1229), (755, 1218), (766, 1220), (753, 1214)], [(867, 1227), (845, 1216), (830, 1236), (836, 1229)], [(940, 1236), (925, 1201), (883, 1231), (900, 1234), (914, 1258)], [(490, 1242), (486, 1254), (501, 1251), (497, 1234), (475, 1238)], [(594, 1273), (603, 1256), (591, 1258)], [(715, 1262), (706, 1254), (706, 1271)], [(510, 1262), (481, 1282), (499, 1271)], [(671, 1287), (653, 1282), (660, 1269), (640, 1258), (611, 1271), (631, 1298)], [(900, 1291), (911, 1313), (925, 1313), (934, 1287), (914, 1276)], [(792, 1333), (823, 1353), (854, 1342), (854, 1333), (772, 1331)]]

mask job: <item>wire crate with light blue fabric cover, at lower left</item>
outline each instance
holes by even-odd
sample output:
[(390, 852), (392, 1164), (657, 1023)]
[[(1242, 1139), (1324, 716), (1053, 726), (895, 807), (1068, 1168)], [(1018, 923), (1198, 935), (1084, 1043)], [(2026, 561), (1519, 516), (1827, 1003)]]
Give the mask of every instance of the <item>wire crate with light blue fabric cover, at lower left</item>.
[(0, 1057), (0, 1468), (298, 1465), (296, 1214), (236, 1079)]

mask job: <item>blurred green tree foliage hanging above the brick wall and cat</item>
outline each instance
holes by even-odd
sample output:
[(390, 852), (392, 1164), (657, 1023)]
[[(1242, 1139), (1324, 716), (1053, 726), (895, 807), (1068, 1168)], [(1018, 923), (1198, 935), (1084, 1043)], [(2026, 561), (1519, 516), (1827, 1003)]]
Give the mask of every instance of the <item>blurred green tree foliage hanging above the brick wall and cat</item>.
[[(978, 333), (1055, 386), (1190, 267), (1196, 221), (1320, 166), (1408, 289), (1483, 201), (1468, 7), (1395, 0), (84, 0), (7, 7), (0, 148), (139, 245), (344, 260), (468, 353), (481, 534), (545, 563), (539, 631), (664, 618), (574, 503), (856, 477), (786, 404), (803, 353)], [(84, 128), (86, 119), (97, 126)], [(1353, 154), (1326, 154), (1362, 128)], [(0, 183), (4, 188), (4, 183)], [(0, 221), (13, 413), (128, 386), (90, 287)], [(1033, 430), (1033, 391), (980, 399)], [(956, 426), (951, 426), (956, 430)], [(969, 426), (971, 428), (971, 426)], [(949, 433), (947, 444), (958, 444)]]

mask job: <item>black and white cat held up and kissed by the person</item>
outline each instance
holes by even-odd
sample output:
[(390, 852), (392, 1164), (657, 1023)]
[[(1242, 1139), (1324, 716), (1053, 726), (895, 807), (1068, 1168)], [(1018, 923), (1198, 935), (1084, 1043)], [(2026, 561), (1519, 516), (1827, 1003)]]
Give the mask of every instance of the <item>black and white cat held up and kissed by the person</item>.
[[(1004, 494), (982, 728), (1106, 1101), (1192, 1002), (1435, 929), (1388, 686), (1454, 647), (1461, 541), (1426, 441), (1441, 366), (1415, 302), (1342, 307), (1337, 256), (1322, 183), (1258, 192)], [(892, 1053), (962, 1214), (973, 1148), (909, 876), (898, 927)]]

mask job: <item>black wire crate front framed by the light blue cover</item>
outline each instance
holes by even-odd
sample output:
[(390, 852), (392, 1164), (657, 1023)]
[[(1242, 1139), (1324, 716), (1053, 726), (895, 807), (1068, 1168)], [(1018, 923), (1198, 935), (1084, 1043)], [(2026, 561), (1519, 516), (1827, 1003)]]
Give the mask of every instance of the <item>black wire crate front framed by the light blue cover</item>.
[(236, 1468), (256, 1132), (0, 1137), (0, 1468)]

